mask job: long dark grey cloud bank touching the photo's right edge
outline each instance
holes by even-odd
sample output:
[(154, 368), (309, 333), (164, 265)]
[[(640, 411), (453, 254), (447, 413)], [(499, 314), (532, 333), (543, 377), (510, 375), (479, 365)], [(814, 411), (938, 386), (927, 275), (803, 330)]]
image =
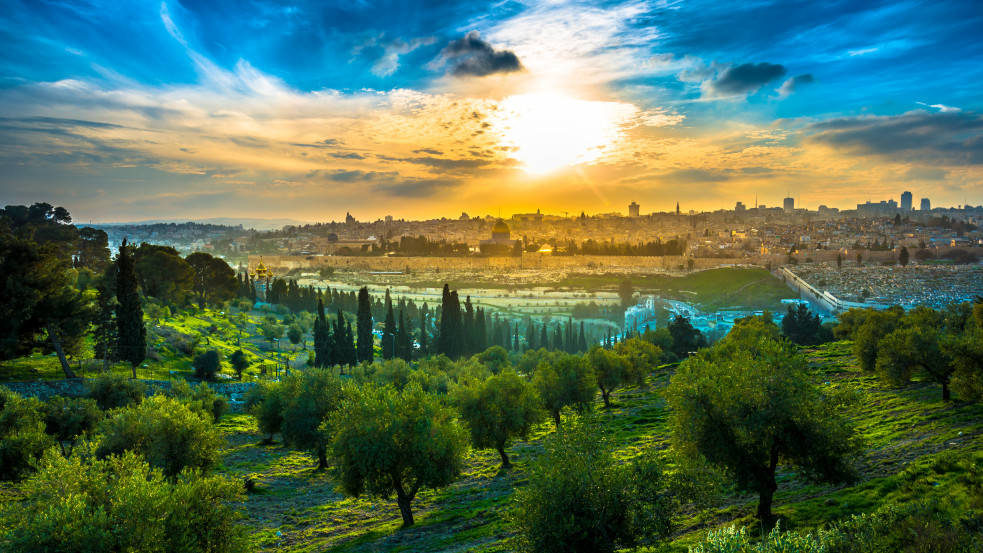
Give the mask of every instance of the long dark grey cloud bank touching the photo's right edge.
[(842, 117), (805, 129), (806, 141), (897, 161), (983, 164), (983, 116), (972, 112), (909, 111)]

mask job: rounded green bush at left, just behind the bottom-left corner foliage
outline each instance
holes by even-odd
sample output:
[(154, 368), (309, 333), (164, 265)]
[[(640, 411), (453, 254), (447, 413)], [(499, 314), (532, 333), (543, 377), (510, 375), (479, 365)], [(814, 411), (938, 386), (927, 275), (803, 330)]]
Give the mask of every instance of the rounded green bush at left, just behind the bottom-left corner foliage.
[(211, 419), (177, 399), (156, 395), (104, 420), (96, 455), (134, 451), (169, 478), (185, 468), (207, 473), (218, 462), (222, 441)]

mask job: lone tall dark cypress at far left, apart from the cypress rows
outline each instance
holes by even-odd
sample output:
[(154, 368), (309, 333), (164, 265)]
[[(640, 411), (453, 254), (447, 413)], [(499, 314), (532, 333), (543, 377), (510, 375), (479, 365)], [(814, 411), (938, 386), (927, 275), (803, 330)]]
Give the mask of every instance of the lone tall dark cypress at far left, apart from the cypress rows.
[(126, 238), (116, 256), (116, 300), (117, 357), (130, 363), (133, 378), (136, 378), (137, 365), (147, 357), (147, 327), (143, 324), (133, 254), (126, 245)]

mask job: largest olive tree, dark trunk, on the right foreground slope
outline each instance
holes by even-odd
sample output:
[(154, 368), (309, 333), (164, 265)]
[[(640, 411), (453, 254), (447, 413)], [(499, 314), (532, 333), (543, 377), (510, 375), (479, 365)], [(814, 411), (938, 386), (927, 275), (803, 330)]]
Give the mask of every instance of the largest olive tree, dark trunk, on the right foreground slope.
[(757, 492), (763, 520), (771, 519), (779, 462), (820, 482), (853, 477), (849, 458), (859, 444), (840, 414), (843, 400), (820, 392), (787, 342), (760, 332), (728, 336), (680, 365), (667, 399), (677, 450)]

